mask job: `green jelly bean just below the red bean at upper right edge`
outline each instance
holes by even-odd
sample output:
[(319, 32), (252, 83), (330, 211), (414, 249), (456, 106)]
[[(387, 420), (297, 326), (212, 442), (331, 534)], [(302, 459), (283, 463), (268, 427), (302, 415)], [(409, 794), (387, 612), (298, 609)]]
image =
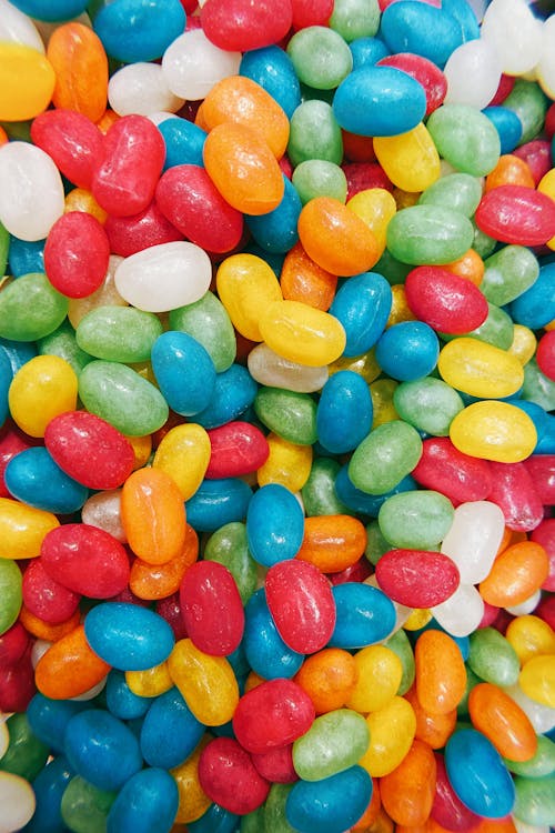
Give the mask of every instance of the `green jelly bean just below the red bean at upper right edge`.
[(536, 282), (539, 263), (524, 245), (505, 245), (484, 261), (481, 291), (491, 303), (503, 307)]

